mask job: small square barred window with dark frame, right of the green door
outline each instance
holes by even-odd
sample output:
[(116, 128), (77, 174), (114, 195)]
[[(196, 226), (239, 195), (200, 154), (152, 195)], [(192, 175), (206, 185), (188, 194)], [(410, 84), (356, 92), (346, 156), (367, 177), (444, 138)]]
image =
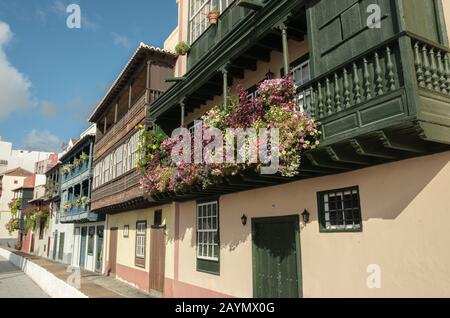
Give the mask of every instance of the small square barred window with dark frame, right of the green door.
[(358, 187), (318, 194), (321, 232), (361, 232), (362, 218)]

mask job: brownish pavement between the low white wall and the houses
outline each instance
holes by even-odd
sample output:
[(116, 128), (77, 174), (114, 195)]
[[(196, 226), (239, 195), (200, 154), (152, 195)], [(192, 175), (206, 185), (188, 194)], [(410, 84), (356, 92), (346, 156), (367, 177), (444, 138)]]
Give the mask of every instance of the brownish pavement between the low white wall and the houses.
[[(41, 257), (27, 255), (16, 250), (9, 249), (9, 251), (42, 267), (64, 282), (72, 275), (72, 273), (67, 272), (67, 265), (55, 263)], [(89, 298), (152, 298), (152, 296), (115, 278), (84, 270), (81, 271), (80, 285), (80, 292)]]

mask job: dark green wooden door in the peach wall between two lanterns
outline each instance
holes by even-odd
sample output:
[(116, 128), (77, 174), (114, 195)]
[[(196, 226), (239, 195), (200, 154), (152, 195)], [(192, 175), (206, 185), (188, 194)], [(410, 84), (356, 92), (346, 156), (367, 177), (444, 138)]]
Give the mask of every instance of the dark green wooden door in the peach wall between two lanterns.
[(253, 219), (253, 295), (298, 298), (301, 292), (298, 216)]

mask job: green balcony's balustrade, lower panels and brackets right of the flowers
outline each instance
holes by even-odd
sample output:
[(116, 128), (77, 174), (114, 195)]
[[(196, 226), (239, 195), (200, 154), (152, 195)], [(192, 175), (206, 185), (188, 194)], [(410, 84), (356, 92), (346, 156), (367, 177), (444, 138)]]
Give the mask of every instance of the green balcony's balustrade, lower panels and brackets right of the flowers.
[(322, 125), (305, 159), (337, 172), (450, 149), (448, 53), (399, 34), (299, 87)]

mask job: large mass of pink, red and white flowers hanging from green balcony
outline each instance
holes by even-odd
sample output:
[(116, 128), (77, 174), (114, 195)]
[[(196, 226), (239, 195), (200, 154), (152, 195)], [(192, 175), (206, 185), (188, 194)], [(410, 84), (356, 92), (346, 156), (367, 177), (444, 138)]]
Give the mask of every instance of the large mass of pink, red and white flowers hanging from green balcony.
[[(264, 149), (272, 155), (277, 154), (279, 164), (273, 173), (285, 177), (298, 175), (301, 155), (304, 151), (319, 145), (320, 131), (318, 123), (306, 112), (298, 110), (292, 79), (262, 82), (258, 86), (255, 98), (249, 98), (242, 88), (238, 88), (238, 92), (237, 97), (230, 99), (227, 108), (223, 105), (215, 106), (202, 117), (202, 130), (196, 130), (194, 134), (202, 138), (201, 162), (198, 162), (198, 149), (192, 145), (191, 140), (184, 141), (185, 136), (180, 139), (167, 138), (162, 134), (144, 131), (141, 136), (141, 150), (146, 155), (138, 164), (142, 174), (142, 188), (151, 194), (206, 189), (223, 182), (227, 176), (246, 171), (261, 171), (264, 163), (254, 161), (245, 155), (252, 153), (251, 151), (253, 153), (259, 151), (261, 154)], [(234, 148), (236, 136), (232, 135), (227, 139), (229, 129), (249, 134), (241, 143), (238, 140), (237, 148)], [(270, 140), (264, 141), (261, 136), (254, 136), (258, 132), (270, 131), (277, 132), (270, 135)], [(225, 142), (219, 143), (217, 147), (211, 147), (217, 142), (217, 136), (212, 132), (220, 133), (219, 137), (224, 137), (221, 139)], [(183, 142), (186, 142), (187, 147), (179, 149), (179, 144)], [(230, 145), (234, 149), (231, 153), (227, 147)], [(211, 148), (214, 150), (211, 151)], [(191, 160), (174, 163), (172, 161), (174, 154)], [(243, 160), (230, 162), (227, 160), (230, 155), (233, 158), (241, 156)], [(210, 157), (219, 160), (208, 162), (206, 159)]]

